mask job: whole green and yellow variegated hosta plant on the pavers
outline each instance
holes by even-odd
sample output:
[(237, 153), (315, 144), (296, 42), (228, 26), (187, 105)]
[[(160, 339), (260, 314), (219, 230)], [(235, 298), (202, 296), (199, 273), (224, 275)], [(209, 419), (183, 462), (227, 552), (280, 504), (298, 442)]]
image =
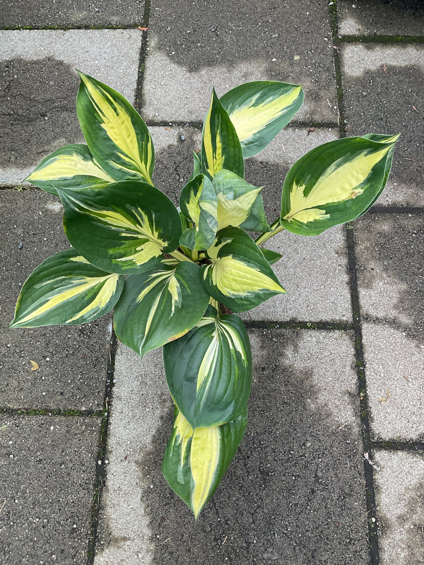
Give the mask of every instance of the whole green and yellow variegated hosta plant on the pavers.
[(26, 179), (60, 198), (72, 247), (29, 276), (10, 327), (82, 324), (115, 308), (116, 336), (140, 358), (163, 346), (175, 412), (162, 471), (197, 519), (246, 428), (252, 353), (236, 314), (285, 293), (271, 268), (281, 256), (262, 244), (284, 229), (315, 236), (364, 214), (386, 184), (398, 136), (345, 137), (309, 151), (285, 177), (281, 215), (268, 224), (244, 159), (293, 118), (302, 87), (255, 81), (221, 98), (213, 90), (176, 208), (153, 184), (153, 142), (140, 115), (79, 74), (86, 145), (62, 147)]

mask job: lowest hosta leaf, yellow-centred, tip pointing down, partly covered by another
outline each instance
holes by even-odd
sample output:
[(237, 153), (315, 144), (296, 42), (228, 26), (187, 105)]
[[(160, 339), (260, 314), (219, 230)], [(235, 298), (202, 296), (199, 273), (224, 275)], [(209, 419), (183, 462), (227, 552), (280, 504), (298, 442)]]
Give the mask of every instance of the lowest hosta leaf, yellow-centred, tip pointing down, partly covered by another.
[(162, 461), (171, 489), (189, 506), (196, 520), (227, 471), (247, 425), (247, 411), (228, 424), (193, 428), (174, 411), (172, 433)]

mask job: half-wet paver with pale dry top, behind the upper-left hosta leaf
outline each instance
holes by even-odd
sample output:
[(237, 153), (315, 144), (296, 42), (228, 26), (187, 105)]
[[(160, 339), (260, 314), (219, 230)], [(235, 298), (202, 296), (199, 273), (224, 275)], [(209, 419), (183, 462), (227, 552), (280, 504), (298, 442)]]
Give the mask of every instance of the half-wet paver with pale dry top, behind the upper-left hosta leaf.
[(0, 184), (19, 184), (52, 151), (84, 143), (75, 68), (135, 99), (138, 29), (0, 31)]

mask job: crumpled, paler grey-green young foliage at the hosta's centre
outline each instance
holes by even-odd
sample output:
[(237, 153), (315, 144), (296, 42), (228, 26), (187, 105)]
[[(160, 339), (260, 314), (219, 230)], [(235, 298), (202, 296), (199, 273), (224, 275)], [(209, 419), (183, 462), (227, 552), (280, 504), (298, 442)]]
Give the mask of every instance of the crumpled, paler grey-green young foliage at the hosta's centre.
[(228, 225), (253, 232), (269, 231), (261, 190), (235, 173), (222, 169), (212, 181), (200, 175), (184, 186), (180, 207), (195, 227), (183, 233), (180, 242), (191, 249), (207, 249), (217, 231)]

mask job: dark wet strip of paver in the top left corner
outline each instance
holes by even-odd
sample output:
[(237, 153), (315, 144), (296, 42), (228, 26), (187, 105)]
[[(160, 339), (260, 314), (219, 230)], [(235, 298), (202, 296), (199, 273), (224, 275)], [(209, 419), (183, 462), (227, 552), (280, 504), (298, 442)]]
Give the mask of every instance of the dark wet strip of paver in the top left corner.
[(103, 0), (88, 3), (76, 0), (24, 2), (0, 0), (0, 27), (90, 27), (93, 25), (143, 25), (144, 2)]

